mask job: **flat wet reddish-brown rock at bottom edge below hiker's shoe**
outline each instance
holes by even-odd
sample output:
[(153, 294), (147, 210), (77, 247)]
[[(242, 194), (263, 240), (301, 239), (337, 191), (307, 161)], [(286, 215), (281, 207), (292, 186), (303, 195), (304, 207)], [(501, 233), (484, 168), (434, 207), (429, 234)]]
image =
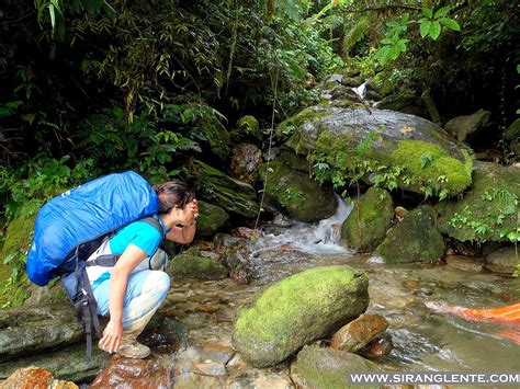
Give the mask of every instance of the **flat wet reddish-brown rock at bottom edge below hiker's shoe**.
[(113, 356), (89, 388), (171, 388), (170, 374), (156, 357), (132, 359)]

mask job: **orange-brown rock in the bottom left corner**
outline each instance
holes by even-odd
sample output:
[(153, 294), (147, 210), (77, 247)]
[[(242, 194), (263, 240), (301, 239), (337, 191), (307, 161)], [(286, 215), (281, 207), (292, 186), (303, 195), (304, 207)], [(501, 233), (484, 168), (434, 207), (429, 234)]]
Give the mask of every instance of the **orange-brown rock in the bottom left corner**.
[(76, 389), (74, 382), (54, 379), (53, 374), (41, 367), (30, 366), (18, 369), (8, 379), (0, 382), (0, 389)]

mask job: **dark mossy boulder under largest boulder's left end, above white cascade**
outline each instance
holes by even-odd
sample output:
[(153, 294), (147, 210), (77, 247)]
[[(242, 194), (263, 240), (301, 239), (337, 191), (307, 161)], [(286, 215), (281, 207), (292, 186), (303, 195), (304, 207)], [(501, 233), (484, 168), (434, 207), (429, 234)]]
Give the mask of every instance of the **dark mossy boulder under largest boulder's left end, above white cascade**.
[(287, 152), (261, 165), (262, 179), (267, 185), (265, 195), (303, 221), (317, 221), (332, 216), (338, 207), (331, 187), (321, 186), (309, 178), (308, 172), (297, 170), (305, 160)]

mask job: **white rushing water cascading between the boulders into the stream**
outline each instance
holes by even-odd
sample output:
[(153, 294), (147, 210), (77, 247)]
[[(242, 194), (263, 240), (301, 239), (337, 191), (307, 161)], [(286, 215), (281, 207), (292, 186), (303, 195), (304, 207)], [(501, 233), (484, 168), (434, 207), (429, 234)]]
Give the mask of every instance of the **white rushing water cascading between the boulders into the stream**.
[(309, 254), (349, 253), (348, 249), (339, 244), (339, 240), (341, 224), (349, 216), (352, 206), (347, 205), (338, 195), (336, 198), (338, 210), (335, 215), (318, 224), (291, 220), (292, 226), (282, 233), (267, 233), (260, 238), (252, 248), (252, 255), (282, 247), (291, 247)]

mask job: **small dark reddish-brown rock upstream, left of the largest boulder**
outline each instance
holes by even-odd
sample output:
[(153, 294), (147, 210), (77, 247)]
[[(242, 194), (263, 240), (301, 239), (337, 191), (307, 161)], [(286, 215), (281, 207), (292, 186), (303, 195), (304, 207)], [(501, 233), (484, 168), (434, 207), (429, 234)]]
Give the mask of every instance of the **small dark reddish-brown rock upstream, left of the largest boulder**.
[(262, 163), (262, 151), (251, 144), (238, 144), (231, 150), (230, 173), (247, 183), (258, 179), (258, 167)]

